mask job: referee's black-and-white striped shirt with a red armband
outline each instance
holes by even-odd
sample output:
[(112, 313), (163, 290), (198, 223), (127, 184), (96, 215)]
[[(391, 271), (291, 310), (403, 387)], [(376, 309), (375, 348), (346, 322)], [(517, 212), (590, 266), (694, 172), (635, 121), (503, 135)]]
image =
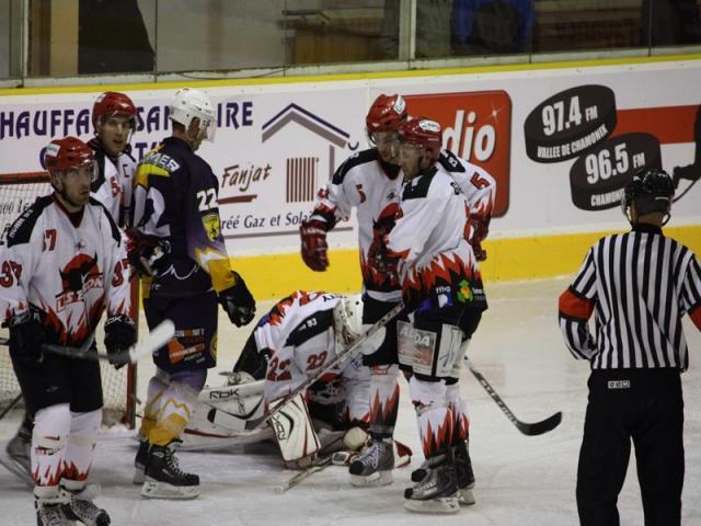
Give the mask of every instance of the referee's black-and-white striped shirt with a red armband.
[[(587, 320), (596, 309), (596, 339)], [(701, 268), (694, 253), (662, 229), (636, 225), (587, 253), (560, 297), (560, 329), (593, 369), (689, 366), (681, 318), (701, 330)]]

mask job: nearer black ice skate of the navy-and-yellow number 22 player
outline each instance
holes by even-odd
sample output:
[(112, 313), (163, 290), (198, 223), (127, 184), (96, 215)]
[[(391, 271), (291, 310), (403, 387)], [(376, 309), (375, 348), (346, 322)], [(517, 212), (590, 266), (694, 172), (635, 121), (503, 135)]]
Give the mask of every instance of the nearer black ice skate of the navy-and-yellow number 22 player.
[(175, 450), (181, 441), (166, 446), (151, 445), (146, 465), (146, 480), (141, 496), (147, 499), (196, 499), (199, 496), (199, 477), (180, 469)]

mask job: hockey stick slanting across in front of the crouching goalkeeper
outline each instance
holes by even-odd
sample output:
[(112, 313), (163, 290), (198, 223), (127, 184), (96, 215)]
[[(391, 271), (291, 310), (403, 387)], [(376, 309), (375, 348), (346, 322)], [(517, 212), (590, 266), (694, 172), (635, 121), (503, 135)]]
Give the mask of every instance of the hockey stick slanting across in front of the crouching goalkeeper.
[[(268, 413), (260, 416), (257, 419), (252, 419), (246, 421), (245, 430), (252, 431), (260, 427), (264, 422), (267, 421), (272, 415), (280, 411), (287, 402), (292, 400), (297, 395), (303, 392), (309, 386), (311, 386), (314, 381), (321, 378), (324, 374), (326, 374), (331, 368), (340, 365), (345, 362), (347, 358), (352, 357), (355, 354), (355, 351), (360, 348), (360, 346), (366, 343), (370, 338), (372, 338), (380, 329), (387, 325), (392, 319), (394, 319), (404, 308), (403, 302), (399, 302), (395, 305), (390, 311), (387, 312), (382, 318), (378, 320), (372, 327), (370, 327), (367, 331), (363, 333), (355, 342), (353, 342), (345, 351), (337, 352), (336, 355), (329, 362), (324, 364), (323, 367), (319, 368), (311, 377), (307, 378), (302, 384), (297, 386), (295, 389), (289, 391), (285, 397), (279, 399), (279, 402), (275, 408), (271, 409)], [(212, 424), (220, 425), (221, 427), (240, 431), (241, 430), (241, 418), (235, 416), (227, 411), (222, 411), (217, 408), (212, 408), (207, 414), (207, 420)]]

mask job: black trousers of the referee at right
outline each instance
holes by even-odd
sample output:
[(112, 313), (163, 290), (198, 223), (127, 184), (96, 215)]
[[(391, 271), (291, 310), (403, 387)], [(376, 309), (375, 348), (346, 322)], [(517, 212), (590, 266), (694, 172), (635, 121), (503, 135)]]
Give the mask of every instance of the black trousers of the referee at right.
[(677, 369), (594, 370), (577, 469), (583, 526), (618, 526), (631, 439), (645, 526), (676, 526), (683, 485), (683, 400)]

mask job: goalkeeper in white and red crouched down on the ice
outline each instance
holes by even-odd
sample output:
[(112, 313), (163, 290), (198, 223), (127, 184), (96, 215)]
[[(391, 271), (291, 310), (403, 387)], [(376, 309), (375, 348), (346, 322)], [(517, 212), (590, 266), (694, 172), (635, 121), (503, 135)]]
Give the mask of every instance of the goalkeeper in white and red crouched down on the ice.
[[(251, 333), (230, 385), (200, 393), (203, 403), (185, 432), (185, 446), (228, 447), (275, 435), (288, 468), (303, 468), (315, 455), (359, 450), (367, 442), (369, 410), (369, 371), (361, 365), (361, 351), (374, 350), (374, 340), (382, 341), (383, 331), (338, 367), (324, 369), (338, 348), (361, 333), (361, 311), (359, 295), (296, 290), (279, 300)], [(289, 402), (280, 411), (284, 418), (273, 419), (275, 434), (268, 427), (263, 427), (266, 433), (245, 431), (248, 420), (260, 418), (264, 408), (304, 384), (306, 396)], [(211, 419), (211, 408), (221, 410), (215, 414), (226, 419), (222, 425)], [(398, 464), (407, 464), (409, 448), (398, 444)]]

